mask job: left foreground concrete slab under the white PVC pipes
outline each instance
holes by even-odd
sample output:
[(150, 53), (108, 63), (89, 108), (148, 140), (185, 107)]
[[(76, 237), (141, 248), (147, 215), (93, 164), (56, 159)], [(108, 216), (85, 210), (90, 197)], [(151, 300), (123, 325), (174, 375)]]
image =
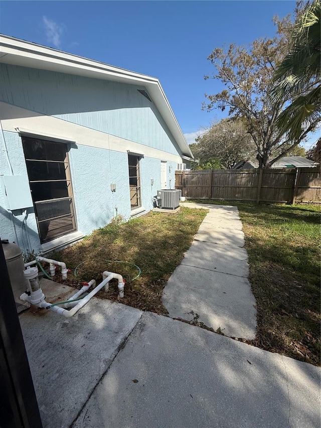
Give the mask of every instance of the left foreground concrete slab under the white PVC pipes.
[[(49, 302), (75, 292), (50, 280), (41, 286)], [(141, 314), (93, 298), (69, 319), (34, 306), (20, 315), (44, 428), (70, 426)]]

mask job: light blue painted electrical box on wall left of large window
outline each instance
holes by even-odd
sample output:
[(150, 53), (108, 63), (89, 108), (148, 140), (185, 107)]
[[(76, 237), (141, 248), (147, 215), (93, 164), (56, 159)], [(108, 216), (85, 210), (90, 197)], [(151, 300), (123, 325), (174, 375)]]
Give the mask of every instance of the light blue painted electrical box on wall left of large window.
[(33, 207), (28, 176), (0, 176), (0, 184), (8, 210)]

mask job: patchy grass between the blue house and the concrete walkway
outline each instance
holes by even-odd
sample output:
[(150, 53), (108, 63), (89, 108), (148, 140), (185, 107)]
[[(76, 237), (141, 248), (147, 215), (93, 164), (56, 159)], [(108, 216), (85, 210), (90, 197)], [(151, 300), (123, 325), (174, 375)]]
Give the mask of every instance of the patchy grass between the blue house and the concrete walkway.
[[(167, 314), (161, 300), (163, 288), (191, 246), (207, 212), (182, 207), (173, 214), (149, 212), (127, 223), (112, 222), (79, 243), (52, 254), (73, 271), (81, 263), (76, 276), (69, 274), (67, 281), (58, 280), (77, 287), (81, 280), (100, 282), (104, 270), (117, 272), (126, 280), (122, 303)], [(133, 280), (138, 273), (134, 265), (141, 273)], [(108, 293), (99, 292), (97, 296), (117, 300), (117, 281), (110, 282)]]

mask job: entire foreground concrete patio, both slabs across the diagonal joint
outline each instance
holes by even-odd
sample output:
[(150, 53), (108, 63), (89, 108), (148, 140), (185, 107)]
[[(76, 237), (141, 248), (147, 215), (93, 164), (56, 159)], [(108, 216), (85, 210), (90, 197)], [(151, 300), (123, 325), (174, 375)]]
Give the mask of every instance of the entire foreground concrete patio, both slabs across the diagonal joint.
[[(47, 281), (48, 300), (74, 290)], [(320, 369), (93, 298), (20, 315), (44, 428), (315, 428)]]

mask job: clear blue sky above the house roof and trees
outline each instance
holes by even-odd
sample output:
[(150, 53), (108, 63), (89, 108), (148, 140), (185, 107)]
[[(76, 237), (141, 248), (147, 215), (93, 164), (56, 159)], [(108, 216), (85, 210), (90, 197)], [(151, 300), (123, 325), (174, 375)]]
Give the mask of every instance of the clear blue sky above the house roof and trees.
[(208, 55), (225, 44), (273, 37), (272, 17), (294, 8), (292, 0), (5, 1), (0, 32), (157, 77), (193, 142), (200, 128), (227, 115), (201, 109), (205, 92), (222, 89), (204, 80), (213, 71)]

